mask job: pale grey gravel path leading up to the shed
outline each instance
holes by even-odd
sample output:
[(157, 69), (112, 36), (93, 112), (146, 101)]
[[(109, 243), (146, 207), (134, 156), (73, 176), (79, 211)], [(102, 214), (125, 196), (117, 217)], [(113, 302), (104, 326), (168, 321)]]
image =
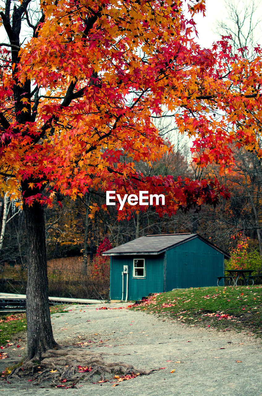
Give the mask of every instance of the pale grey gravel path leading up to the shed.
[[(84, 347), (90, 351), (106, 352), (106, 361), (126, 362), (141, 369), (165, 368), (115, 387), (83, 383), (80, 389), (62, 390), (36, 388), (27, 380), (0, 382), (0, 396), (56, 396), (61, 392), (70, 396), (262, 396), (261, 339), (234, 331), (183, 326), (143, 312), (97, 310), (99, 307), (74, 305), (68, 313), (53, 314), (55, 339), (62, 345), (87, 343)], [(23, 340), (20, 345), (25, 346)], [(19, 350), (21, 355), (25, 351)], [(10, 359), (0, 360), (1, 371), (17, 361), (17, 350), (7, 348), (5, 352)], [(175, 372), (170, 373), (173, 369)]]

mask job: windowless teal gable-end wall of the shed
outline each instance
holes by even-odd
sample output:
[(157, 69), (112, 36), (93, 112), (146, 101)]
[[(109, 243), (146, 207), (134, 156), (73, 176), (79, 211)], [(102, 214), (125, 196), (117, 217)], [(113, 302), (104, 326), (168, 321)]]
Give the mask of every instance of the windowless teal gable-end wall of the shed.
[(224, 255), (199, 238), (166, 251), (166, 290), (216, 286), (224, 274)]

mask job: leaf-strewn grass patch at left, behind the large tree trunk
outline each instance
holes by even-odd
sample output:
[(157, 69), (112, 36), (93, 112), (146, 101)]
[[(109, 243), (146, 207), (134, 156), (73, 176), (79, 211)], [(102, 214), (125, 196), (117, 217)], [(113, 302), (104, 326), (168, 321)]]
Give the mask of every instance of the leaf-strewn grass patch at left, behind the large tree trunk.
[[(64, 310), (66, 305), (57, 305), (50, 307), (50, 313), (58, 312), (68, 312)], [(20, 333), (21, 331), (26, 331), (27, 329), (27, 319), (25, 313), (18, 313), (13, 315), (0, 316), (0, 345), (4, 346), (11, 341), (12, 337)]]

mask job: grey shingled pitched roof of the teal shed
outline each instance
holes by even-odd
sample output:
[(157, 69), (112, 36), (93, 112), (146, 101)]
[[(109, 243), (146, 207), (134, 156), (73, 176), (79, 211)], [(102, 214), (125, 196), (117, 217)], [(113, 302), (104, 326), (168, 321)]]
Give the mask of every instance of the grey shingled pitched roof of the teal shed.
[(127, 242), (126, 244), (114, 247), (113, 249), (107, 250), (103, 253), (104, 256), (113, 255), (134, 255), (134, 254), (160, 254), (166, 250), (172, 249), (174, 246), (181, 245), (194, 238), (199, 238), (209, 246), (218, 250), (224, 254), (226, 258), (230, 256), (228, 253), (219, 249), (219, 247), (211, 244), (205, 238), (202, 238), (199, 234), (161, 234), (161, 235), (147, 235), (141, 236), (133, 241)]

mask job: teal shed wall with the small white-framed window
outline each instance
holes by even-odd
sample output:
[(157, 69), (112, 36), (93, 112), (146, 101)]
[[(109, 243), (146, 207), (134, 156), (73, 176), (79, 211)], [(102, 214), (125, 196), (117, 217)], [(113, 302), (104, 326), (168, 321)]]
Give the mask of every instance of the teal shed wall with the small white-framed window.
[[(164, 253), (159, 255), (121, 255), (111, 256), (110, 265), (110, 299), (122, 299), (122, 271), (129, 265), (128, 300), (139, 300), (149, 293), (163, 292), (164, 284)], [(133, 260), (145, 259), (146, 277), (133, 278)], [(126, 292), (126, 274), (124, 274), (124, 296)]]

